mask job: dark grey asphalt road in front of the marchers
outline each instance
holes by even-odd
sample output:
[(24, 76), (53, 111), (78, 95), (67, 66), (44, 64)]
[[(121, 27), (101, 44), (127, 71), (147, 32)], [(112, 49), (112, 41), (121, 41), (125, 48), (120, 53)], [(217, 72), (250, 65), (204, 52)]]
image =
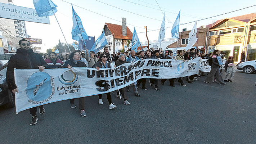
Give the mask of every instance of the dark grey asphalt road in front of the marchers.
[(160, 91), (147, 81), (141, 97), (128, 93), (130, 105), (112, 93), (114, 110), (105, 94), (103, 105), (98, 96), (89, 96), (86, 117), (78, 112), (78, 100), (75, 109), (68, 100), (47, 104), (33, 126), (28, 110), (15, 114), (15, 108), (0, 107), (0, 143), (255, 144), (256, 74), (235, 72), (226, 85), (206, 84), (205, 78), (186, 87), (160, 82)]

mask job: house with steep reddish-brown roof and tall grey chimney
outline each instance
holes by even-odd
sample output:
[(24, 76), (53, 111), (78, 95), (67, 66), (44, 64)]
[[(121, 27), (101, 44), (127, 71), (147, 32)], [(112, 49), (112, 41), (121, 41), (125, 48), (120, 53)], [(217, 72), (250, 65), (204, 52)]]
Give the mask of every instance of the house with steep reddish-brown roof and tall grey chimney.
[(133, 39), (133, 33), (126, 26), (126, 18), (122, 18), (122, 25), (105, 23), (103, 29), (111, 53), (128, 50), (126, 44)]

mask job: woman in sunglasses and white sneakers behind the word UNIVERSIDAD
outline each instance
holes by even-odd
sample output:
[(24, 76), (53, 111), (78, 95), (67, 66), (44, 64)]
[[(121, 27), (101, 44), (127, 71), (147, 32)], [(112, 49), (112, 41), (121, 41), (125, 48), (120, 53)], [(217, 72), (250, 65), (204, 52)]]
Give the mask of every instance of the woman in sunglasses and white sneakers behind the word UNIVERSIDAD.
[[(100, 54), (98, 62), (96, 62), (93, 67), (99, 70), (100, 68), (110, 68), (110, 63), (107, 61), (107, 55), (105, 53)], [(115, 66), (116, 67), (116, 66)], [(110, 93), (107, 94), (107, 99), (109, 103), (109, 109), (116, 108), (116, 105), (112, 103), (112, 98)], [(102, 94), (99, 94), (99, 104), (103, 104)]]

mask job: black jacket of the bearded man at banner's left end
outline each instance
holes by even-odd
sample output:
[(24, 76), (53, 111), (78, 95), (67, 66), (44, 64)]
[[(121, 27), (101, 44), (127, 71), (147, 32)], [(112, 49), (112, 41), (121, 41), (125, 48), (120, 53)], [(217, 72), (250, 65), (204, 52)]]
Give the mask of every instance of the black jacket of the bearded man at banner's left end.
[(39, 69), (37, 66), (44, 66), (48, 68), (46, 62), (40, 54), (34, 53), (33, 50), (29, 49), (17, 49), (15, 55), (9, 60), (6, 82), (10, 90), (17, 88), (14, 80), (14, 68), (16, 69)]

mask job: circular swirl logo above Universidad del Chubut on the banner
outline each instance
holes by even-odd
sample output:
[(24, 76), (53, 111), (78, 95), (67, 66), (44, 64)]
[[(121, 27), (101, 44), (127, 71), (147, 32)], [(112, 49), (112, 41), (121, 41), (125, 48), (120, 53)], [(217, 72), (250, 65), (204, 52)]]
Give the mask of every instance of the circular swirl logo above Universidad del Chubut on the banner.
[(71, 69), (59, 76), (59, 81), (64, 85), (72, 85), (77, 81), (77, 74)]

